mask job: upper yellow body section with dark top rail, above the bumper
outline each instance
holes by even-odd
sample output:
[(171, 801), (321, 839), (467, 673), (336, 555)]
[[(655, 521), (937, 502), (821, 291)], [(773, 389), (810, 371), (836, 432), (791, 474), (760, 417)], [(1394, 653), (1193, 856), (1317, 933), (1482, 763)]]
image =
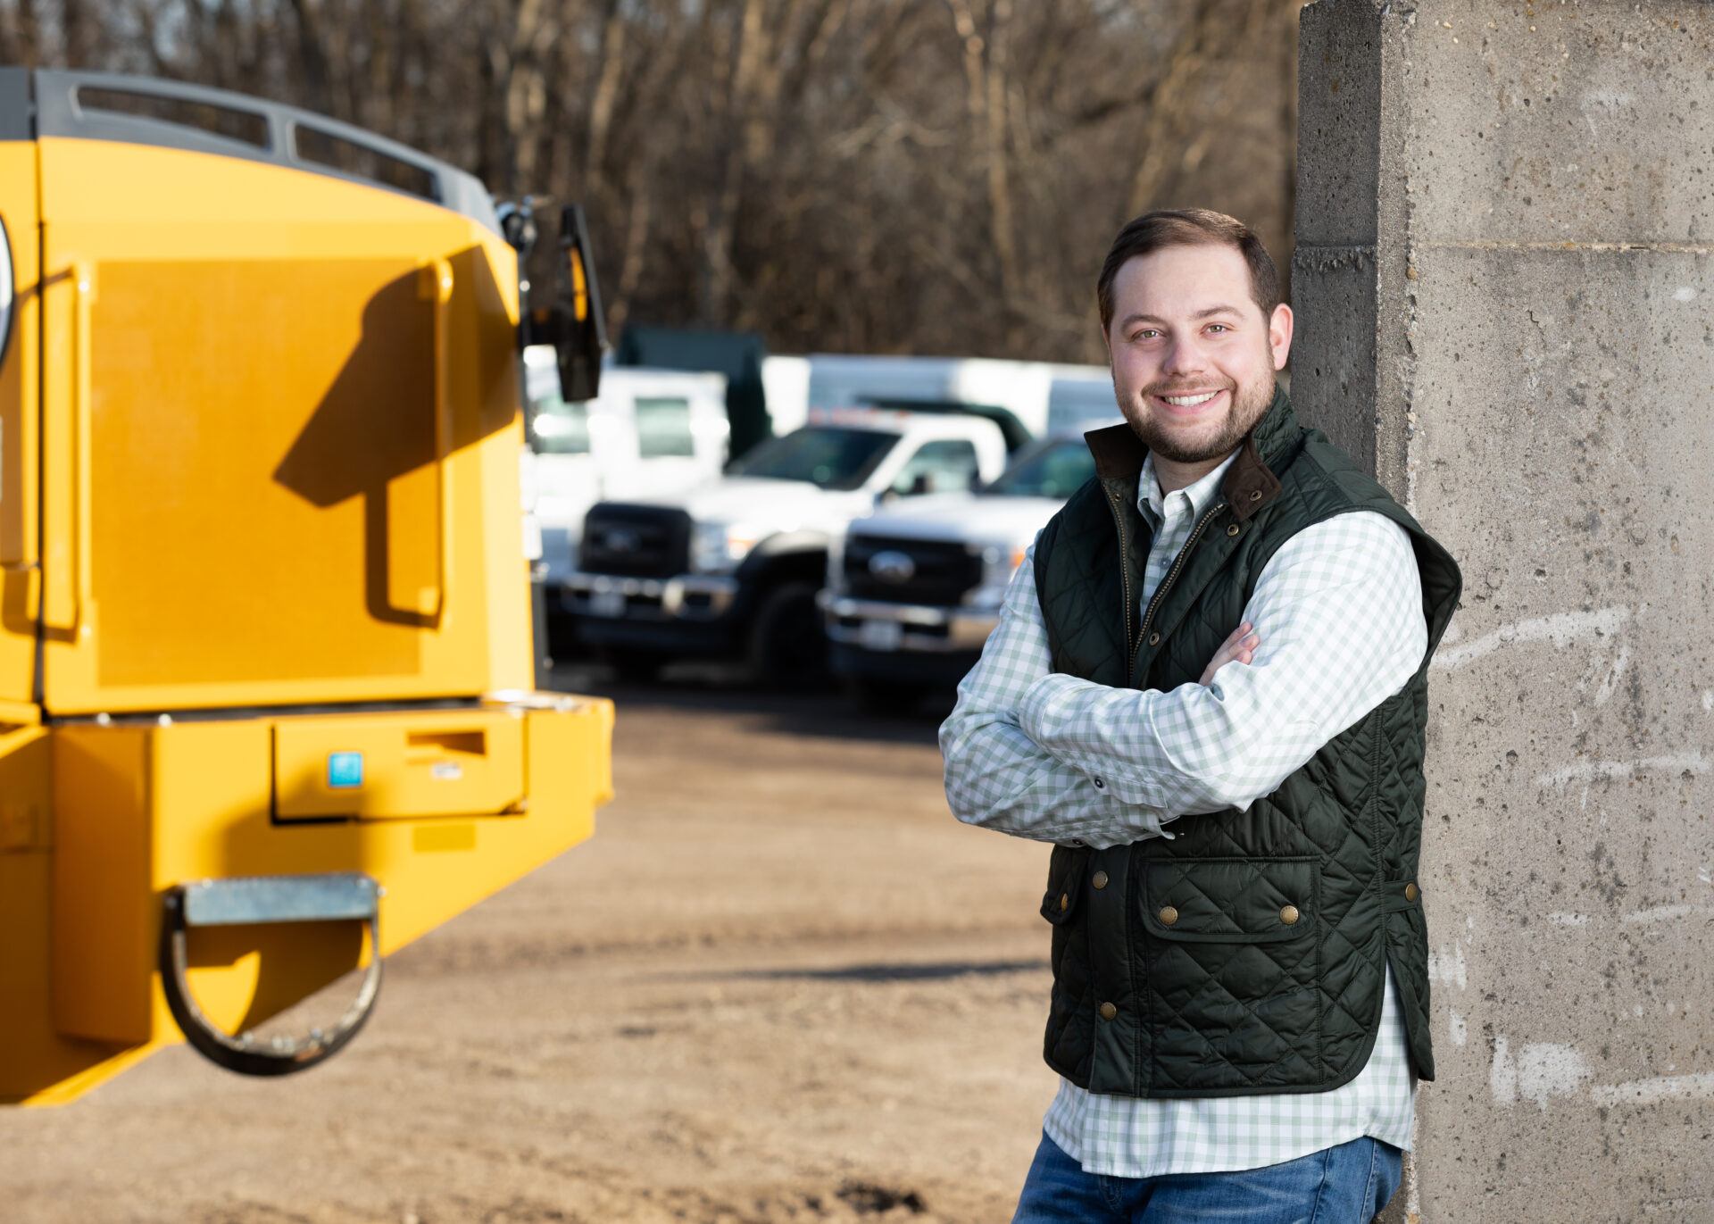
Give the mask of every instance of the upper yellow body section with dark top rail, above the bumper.
[(514, 252), (439, 163), (187, 93), (38, 74), (46, 708), (530, 687)]

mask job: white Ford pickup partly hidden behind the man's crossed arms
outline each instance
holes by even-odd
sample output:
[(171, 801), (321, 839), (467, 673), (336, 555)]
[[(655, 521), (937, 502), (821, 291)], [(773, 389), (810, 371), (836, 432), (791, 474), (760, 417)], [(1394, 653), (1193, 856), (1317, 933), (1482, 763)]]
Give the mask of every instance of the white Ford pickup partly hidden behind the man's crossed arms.
[(1095, 475), (1082, 435), (1032, 442), (974, 494), (920, 497), (850, 525), (821, 593), (833, 672), (859, 703), (902, 713), (951, 689), (982, 653), (1035, 533)]

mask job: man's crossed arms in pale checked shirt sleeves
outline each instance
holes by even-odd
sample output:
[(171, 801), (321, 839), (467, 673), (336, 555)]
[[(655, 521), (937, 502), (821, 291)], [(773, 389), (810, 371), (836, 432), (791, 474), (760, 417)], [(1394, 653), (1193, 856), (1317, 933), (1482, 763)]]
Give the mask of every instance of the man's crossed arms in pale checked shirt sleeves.
[(1397, 693), (1428, 650), (1411, 538), (1373, 511), (1280, 545), (1244, 607), (1253, 662), (1166, 693), (1051, 670), (1034, 559), (1032, 545), (941, 725), (953, 814), (1015, 837), (1109, 847), (1248, 807)]

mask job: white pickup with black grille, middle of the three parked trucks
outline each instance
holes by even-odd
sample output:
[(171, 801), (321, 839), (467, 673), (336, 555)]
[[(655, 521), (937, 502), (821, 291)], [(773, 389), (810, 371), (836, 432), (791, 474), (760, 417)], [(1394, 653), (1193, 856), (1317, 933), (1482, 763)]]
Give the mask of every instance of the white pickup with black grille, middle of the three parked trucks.
[(624, 674), (737, 657), (770, 682), (812, 681), (826, 669), (816, 593), (830, 542), (878, 506), (962, 492), (1004, 466), (1004, 434), (984, 417), (816, 410), (720, 480), (591, 507), (559, 610)]

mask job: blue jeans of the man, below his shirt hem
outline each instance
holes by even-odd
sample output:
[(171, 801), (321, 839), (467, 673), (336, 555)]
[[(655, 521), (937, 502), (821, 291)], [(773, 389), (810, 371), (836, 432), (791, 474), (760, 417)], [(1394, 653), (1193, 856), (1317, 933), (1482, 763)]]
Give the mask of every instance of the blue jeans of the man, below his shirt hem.
[(1402, 1166), (1392, 1143), (1354, 1138), (1260, 1169), (1109, 1178), (1042, 1135), (1011, 1224), (1369, 1224)]

